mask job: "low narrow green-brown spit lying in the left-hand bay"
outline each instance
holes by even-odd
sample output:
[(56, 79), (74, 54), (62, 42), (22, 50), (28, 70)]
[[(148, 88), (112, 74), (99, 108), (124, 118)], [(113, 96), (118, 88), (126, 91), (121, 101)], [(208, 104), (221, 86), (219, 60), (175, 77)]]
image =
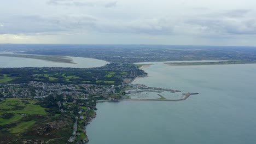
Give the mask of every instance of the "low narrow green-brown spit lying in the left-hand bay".
[(42, 59), (45, 61), (59, 62), (59, 63), (74, 63), (72, 59), (69, 59), (68, 57), (63, 57), (63, 56), (15, 55), (15, 54), (0, 54), (0, 56)]

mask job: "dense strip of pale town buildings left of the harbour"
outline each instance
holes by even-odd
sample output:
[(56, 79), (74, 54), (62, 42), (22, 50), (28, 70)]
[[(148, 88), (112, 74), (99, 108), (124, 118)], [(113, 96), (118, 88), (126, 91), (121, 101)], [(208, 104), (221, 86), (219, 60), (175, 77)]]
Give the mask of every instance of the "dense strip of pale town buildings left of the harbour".
[(71, 95), (72, 98), (108, 97), (115, 87), (91, 84), (63, 84), (31, 81), (28, 84), (1, 84), (0, 94), (5, 98), (45, 98), (49, 95)]

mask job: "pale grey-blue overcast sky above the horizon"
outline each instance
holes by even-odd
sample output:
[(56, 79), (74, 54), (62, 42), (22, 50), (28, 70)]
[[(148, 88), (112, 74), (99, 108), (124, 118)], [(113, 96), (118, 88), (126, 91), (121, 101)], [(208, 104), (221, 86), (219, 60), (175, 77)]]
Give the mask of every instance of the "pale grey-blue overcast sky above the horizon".
[(256, 46), (254, 0), (8, 0), (0, 43)]

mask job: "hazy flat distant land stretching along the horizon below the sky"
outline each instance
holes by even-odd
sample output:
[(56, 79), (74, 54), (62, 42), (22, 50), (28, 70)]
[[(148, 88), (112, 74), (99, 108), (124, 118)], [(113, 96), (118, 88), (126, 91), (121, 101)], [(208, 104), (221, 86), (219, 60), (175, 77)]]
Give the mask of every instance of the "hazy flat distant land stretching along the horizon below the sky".
[(0, 44), (0, 51), (101, 59), (110, 63), (256, 61), (256, 47), (189, 45)]

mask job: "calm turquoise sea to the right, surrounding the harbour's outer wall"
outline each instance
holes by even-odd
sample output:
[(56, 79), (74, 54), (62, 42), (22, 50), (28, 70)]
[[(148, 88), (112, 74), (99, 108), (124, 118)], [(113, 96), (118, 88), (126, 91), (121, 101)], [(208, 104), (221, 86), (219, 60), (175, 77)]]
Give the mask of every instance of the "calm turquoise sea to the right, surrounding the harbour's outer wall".
[[(152, 62), (151, 62), (152, 63)], [(134, 83), (198, 92), (184, 101), (98, 103), (90, 144), (256, 143), (256, 64), (154, 62)]]

